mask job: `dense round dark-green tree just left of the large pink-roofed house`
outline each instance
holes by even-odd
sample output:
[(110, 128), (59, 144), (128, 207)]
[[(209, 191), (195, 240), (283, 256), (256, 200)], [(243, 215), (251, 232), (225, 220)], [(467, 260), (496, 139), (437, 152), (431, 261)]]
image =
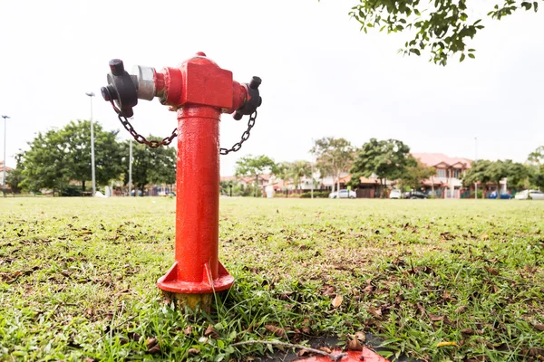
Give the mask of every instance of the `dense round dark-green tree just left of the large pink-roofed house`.
[(377, 176), (384, 195), (384, 180), (397, 180), (406, 173), (406, 167), (413, 165), (410, 148), (397, 139), (378, 141), (371, 138), (356, 153), (351, 169), (352, 180), (357, 182), (361, 176)]

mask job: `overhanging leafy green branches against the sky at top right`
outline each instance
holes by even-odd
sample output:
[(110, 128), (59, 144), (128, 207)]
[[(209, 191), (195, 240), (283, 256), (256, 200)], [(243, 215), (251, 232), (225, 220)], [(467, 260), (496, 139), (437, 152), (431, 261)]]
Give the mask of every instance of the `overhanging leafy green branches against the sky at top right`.
[[(475, 8), (478, 4), (471, 2)], [(521, 8), (536, 13), (539, 2), (494, 0), (489, 6), (488, 16), (500, 20)], [(404, 43), (399, 52), (419, 56), (428, 49), (432, 62), (446, 65), (456, 53), (461, 54), (460, 62), (467, 55), (475, 58), (474, 49), (468, 49), (466, 44), (468, 38), (472, 39), (484, 28), (482, 19), (473, 20), (475, 8), (467, 9), (467, 0), (359, 0), (349, 14), (362, 24), (364, 33), (372, 28), (387, 33), (414, 33), (413, 39)]]

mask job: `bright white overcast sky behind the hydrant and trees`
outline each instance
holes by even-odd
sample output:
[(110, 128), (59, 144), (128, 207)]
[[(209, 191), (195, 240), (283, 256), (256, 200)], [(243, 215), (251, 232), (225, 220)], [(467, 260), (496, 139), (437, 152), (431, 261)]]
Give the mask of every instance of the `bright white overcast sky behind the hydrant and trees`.
[[(491, 1), (486, 1), (491, 4)], [(471, 42), (476, 60), (447, 67), (397, 53), (409, 34), (359, 31), (347, 13), (357, 0), (1, 1), (0, 114), (7, 166), (35, 132), (70, 119), (120, 129), (100, 97), (108, 61), (125, 67), (175, 66), (206, 52), (235, 80), (263, 79), (263, 105), (251, 138), (221, 157), (221, 175), (247, 154), (310, 159), (312, 138), (397, 138), (415, 152), (523, 161), (544, 145), (544, 12), (514, 14)], [(478, 14), (485, 15), (486, 9)], [(476, 20), (476, 18), (474, 18)], [(175, 113), (140, 100), (133, 126), (164, 137)], [(221, 146), (238, 141), (247, 120), (223, 115)], [(0, 127), (4, 142), (4, 125)], [(129, 138), (121, 129), (120, 138)], [(2, 155), (3, 156), (3, 155)]]

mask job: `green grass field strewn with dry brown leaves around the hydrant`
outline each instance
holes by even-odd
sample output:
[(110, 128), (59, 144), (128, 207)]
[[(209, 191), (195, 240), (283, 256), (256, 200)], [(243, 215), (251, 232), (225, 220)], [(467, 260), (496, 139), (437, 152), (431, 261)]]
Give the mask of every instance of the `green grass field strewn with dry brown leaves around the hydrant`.
[(544, 202), (221, 199), (237, 281), (211, 316), (155, 287), (174, 216), (168, 198), (0, 199), (0, 360), (252, 360), (268, 348), (231, 344), (361, 331), (392, 359), (544, 360)]

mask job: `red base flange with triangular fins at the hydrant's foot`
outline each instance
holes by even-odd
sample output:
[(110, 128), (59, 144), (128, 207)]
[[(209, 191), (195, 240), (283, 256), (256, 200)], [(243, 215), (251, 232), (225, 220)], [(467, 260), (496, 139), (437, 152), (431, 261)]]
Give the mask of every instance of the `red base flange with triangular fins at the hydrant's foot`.
[(178, 271), (178, 262), (174, 262), (170, 271), (167, 271), (164, 276), (159, 278), (157, 287), (161, 291), (170, 291), (177, 294), (203, 294), (226, 291), (234, 283), (234, 277), (228, 274), (221, 262), (219, 262), (219, 275), (215, 280), (212, 279), (208, 263), (203, 265), (201, 281), (182, 281), (178, 276)]

